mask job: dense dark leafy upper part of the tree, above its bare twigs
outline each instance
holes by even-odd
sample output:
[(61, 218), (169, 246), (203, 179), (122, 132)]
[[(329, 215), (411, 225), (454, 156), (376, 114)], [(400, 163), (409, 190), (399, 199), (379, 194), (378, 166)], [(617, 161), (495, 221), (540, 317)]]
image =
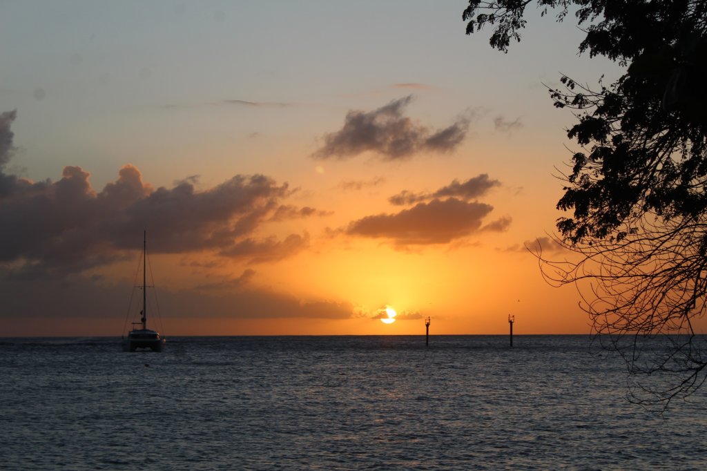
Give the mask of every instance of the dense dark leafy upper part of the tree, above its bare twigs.
[(568, 240), (623, 238), (621, 229), (653, 211), (667, 219), (707, 211), (707, 2), (689, 0), (469, 0), (467, 34), (495, 29), (491, 46), (520, 40), (531, 3), (573, 11), (586, 30), (580, 52), (628, 66), (610, 86), (592, 90), (563, 76), (550, 90), (557, 107), (574, 110), (568, 129), (582, 151), (557, 207)]

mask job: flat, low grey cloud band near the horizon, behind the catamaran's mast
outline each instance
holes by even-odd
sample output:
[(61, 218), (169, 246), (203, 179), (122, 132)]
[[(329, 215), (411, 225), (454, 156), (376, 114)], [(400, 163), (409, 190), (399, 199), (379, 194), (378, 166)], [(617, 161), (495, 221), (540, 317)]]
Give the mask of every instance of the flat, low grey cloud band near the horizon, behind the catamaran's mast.
[[(252, 271), (246, 270), (230, 282), (204, 284), (199, 289), (177, 291), (158, 286), (165, 327), (169, 326), (170, 320), (185, 317), (348, 319), (354, 316), (354, 307), (350, 303), (302, 299), (271, 289), (254, 288), (250, 286), (252, 276)], [(32, 283), (4, 277), (0, 283), (0, 298), (3, 300), (0, 317), (105, 317), (122, 322), (126, 315), (126, 293), (131, 289), (129, 283), (111, 283), (83, 276), (62, 280), (38, 279)]]

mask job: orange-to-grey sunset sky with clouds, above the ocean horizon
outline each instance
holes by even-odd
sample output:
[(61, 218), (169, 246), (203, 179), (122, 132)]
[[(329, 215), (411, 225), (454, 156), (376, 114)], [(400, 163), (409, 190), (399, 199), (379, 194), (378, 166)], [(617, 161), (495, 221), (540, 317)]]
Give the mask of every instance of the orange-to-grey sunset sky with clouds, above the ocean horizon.
[(576, 149), (543, 84), (620, 69), (465, 6), (2, 1), (0, 337), (124, 333), (144, 229), (168, 336), (589, 332), (524, 243)]

